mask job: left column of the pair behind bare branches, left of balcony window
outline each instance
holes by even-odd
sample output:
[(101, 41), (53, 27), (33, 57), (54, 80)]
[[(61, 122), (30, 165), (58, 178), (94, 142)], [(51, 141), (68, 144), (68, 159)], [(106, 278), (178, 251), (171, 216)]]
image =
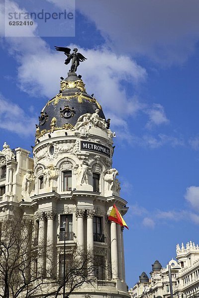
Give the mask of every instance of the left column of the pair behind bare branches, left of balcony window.
[(45, 220), (46, 220), (46, 214), (45, 212), (37, 214), (37, 218), (39, 220), (39, 235), (38, 235), (38, 271), (45, 271), (45, 247), (46, 247), (46, 241), (45, 241)]

